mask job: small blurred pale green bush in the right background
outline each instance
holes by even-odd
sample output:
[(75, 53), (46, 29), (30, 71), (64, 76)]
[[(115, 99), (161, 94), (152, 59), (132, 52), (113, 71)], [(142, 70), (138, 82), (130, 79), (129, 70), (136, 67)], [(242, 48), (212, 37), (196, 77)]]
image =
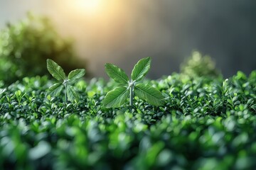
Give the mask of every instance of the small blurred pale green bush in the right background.
[(191, 57), (181, 64), (181, 74), (188, 77), (220, 77), (220, 71), (215, 68), (215, 62), (210, 56), (193, 51)]

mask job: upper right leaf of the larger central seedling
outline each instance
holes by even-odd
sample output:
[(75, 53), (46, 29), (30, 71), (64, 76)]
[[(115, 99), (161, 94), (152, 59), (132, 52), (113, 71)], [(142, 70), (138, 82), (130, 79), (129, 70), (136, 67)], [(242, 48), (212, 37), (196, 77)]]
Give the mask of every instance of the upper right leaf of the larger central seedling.
[(151, 58), (146, 57), (142, 60), (139, 60), (137, 64), (135, 64), (134, 69), (132, 69), (132, 80), (133, 81), (139, 81), (141, 80), (147, 72), (149, 72), (151, 64)]

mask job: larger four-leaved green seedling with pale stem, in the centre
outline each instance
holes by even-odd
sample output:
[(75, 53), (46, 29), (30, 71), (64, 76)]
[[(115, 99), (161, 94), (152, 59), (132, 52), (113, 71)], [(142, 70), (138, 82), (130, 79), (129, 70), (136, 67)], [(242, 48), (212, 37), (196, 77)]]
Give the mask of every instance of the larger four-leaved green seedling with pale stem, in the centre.
[(129, 81), (124, 70), (114, 64), (105, 64), (105, 70), (110, 78), (123, 86), (119, 86), (109, 91), (103, 100), (103, 105), (107, 108), (119, 107), (125, 103), (129, 97), (129, 105), (133, 106), (134, 94), (139, 98), (154, 106), (161, 106), (164, 96), (161, 92), (148, 84), (138, 84), (149, 72), (151, 58), (146, 57), (139, 60), (132, 69), (132, 79)]

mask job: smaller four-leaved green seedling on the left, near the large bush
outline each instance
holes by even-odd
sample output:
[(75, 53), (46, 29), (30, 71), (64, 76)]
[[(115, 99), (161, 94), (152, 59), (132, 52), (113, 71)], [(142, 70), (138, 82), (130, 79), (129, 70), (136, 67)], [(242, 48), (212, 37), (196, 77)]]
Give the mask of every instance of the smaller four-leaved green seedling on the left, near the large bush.
[(63, 88), (65, 88), (66, 102), (68, 100), (73, 101), (79, 98), (72, 84), (74, 84), (75, 81), (85, 75), (85, 69), (75, 69), (68, 74), (68, 77), (66, 77), (63, 68), (61, 68), (56, 62), (53, 62), (53, 60), (50, 59), (47, 60), (47, 69), (50, 74), (59, 81), (58, 83), (50, 86), (47, 95), (58, 96)]

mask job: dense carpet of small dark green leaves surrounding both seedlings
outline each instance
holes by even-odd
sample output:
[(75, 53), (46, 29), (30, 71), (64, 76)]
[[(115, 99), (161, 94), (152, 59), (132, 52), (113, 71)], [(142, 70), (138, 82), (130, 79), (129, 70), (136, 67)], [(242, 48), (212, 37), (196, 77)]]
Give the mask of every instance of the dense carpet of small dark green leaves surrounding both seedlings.
[[(0, 169), (255, 169), (256, 72), (144, 80), (167, 98), (105, 108), (114, 81), (50, 98), (46, 77), (0, 86)], [(128, 99), (127, 99), (128, 100)]]

